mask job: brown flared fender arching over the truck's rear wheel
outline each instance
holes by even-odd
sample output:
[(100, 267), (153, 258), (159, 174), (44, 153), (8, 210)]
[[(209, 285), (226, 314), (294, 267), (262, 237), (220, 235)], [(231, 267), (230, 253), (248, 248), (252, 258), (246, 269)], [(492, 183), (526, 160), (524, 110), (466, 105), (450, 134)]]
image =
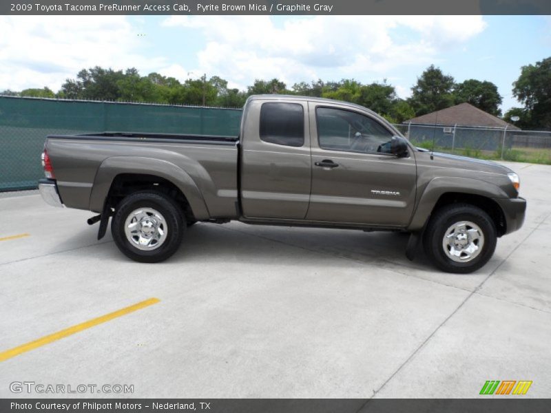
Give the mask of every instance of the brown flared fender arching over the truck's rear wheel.
[(166, 160), (139, 156), (113, 156), (101, 162), (90, 193), (90, 211), (103, 211), (111, 184), (121, 173), (141, 173), (165, 178), (182, 191), (197, 220), (210, 218), (201, 191), (186, 171)]

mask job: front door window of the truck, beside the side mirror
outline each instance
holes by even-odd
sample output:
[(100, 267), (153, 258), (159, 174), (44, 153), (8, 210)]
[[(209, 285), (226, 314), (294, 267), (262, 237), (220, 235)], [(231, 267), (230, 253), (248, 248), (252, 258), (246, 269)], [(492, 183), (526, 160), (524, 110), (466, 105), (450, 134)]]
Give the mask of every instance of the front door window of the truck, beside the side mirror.
[(343, 109), (315, 110), (320, 148), (331, 151), (391, 153), (393, 134), (377, 120)]

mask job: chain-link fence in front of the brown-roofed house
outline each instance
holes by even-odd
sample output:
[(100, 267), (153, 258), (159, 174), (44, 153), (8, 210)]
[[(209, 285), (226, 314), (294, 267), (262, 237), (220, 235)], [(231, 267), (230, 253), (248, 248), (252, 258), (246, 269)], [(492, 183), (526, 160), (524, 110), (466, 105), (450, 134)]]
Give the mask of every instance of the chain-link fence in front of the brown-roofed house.
[(490, 160), (551, 165), (551, 131), (490, 127), (395, 125), (413, 145)]

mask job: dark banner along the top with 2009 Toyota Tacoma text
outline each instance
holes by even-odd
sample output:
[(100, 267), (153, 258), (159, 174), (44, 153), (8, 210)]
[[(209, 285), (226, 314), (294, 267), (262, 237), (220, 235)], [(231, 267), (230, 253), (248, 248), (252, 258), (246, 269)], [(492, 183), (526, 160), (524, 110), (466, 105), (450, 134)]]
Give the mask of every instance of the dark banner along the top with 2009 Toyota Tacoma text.
[(551, 14), (549, 0), (6, 0), (0, 14)]

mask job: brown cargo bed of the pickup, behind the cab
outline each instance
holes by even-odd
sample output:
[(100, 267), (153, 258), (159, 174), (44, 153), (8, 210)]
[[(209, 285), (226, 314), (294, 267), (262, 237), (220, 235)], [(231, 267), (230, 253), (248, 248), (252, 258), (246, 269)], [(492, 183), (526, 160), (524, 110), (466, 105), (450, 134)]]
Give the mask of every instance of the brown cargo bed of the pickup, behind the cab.
[(236, 136), (107, 131), (50, 135), (45, 148), (67, 207), (101, 212), (115, 178), (136, 174), (165, 178), (189, 193), (198, 220), (238, 214)]

